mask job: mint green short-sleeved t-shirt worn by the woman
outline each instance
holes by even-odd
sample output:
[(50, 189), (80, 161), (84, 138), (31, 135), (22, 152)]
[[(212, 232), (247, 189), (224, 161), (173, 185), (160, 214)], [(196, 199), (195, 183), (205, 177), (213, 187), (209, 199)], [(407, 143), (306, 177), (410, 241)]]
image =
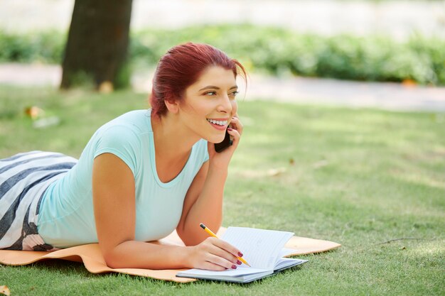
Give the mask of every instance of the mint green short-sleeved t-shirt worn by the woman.
[(102, 153), (117, 155), (133, 172), (137, 241), (161, 239), (176, 229), (187, 190), (208, 160), (207, 141), (200, 140), (179, 175), (163, 183), (156, 172), (151, 110), (130, 111), (109, 121), (92, 136), (78, 163), (46, 190), (38, 210), (38, 234), (45, 243), (67, 248), (97, 242), (92, 164)]

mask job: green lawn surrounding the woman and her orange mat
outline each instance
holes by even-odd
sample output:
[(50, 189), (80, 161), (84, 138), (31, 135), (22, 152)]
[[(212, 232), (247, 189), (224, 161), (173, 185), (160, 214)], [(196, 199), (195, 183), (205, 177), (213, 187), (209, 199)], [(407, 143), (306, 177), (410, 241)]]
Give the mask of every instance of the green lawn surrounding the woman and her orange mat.
[[(81, 263), (0, 265), (11, 295), (444, 295), (445, 114), (240, 102), (245, 124), (225, 226), (294, 231), (336, 251), (249, 285), (92, 275)], [(146, 95), (0, 87), (0, 158), (78, 157), (96, 128)], [(62, 119), (36, 129), (23, 108)], [(392, 239), (401, 239), (390, 241)], [(410, 238), (410, 239), (407, 239)]]

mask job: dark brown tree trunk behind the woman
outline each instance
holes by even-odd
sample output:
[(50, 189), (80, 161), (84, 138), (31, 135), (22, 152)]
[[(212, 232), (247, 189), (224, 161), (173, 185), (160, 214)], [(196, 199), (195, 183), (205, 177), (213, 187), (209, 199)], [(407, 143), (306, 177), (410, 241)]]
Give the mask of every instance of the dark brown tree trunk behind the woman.
[(60, 88), (127, 86), (131, 15), (132, 0), (75, 0)]

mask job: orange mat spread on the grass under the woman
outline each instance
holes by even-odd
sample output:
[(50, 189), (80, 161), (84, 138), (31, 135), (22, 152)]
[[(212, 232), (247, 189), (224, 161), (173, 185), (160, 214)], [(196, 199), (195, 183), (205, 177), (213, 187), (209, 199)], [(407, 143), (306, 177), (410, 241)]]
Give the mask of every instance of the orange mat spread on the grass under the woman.
[[(218, 231), (218, 235), (222, 235), (224, 231), (225, 228), (221, 227), (220, 231)], [(183, 246), (183, 242), (179, 239), (176, 231), (156, 243)], [(339, 243), (334, 243), (332, 241), (293, 236), (286, 243), (285, 247), (295, 249), (295, 253), (291, 253), (289, 256), (296, 256), (329, 251), (340, 246)], [(127, 273), (129, 275), (141, 275), (148, 278), (156, 278), (158, 280), (172, 280), (178, 283), (195, 281), (191, 278), (176, 278), (176, 273), (178, 273), (180, 269), (151, 270), (141, 268), (109, 268), (107, 264), (105, 264), (97, 243), (64, 248), (53, 252), (0, 250), (0, 263), (5, 265), (26, 265), (48, 259), (83, 262), (85, 268), (87, 268), (90, 273)]]

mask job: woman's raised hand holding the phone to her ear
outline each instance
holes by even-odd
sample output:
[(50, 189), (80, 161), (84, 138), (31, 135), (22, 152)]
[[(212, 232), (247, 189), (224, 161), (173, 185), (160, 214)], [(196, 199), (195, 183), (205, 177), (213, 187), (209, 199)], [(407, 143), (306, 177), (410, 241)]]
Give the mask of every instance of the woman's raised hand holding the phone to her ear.
[(229, 127), (227, 128), (227, 132), (230, 134), (230, 139), (232, 140), (232, 145), (218, 153), (215, 151), (215, 144), (208, 143), (210, 165), (215, 165), (217, 167), (227, 167), (227, 165), (229, 165), (230, 159), (232, 159), (232, 155), (240, 143), (242, 128), (242, 123), (238, 118), (238, 115), (235, 114), (230, 121)]

